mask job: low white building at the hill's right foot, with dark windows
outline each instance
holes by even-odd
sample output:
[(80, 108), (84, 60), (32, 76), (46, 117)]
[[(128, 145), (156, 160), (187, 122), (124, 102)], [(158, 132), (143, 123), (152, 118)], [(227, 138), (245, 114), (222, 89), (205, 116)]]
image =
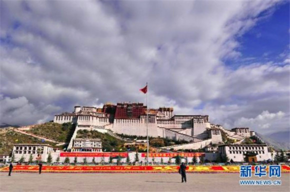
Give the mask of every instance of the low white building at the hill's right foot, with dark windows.
[(267, 160), (269, 158), (266, 144), (222, 144), (218, 146), (218, 152), (232, 159), (234, 162), (245, 161), (246, 152), (254, 152), (257, 161)]

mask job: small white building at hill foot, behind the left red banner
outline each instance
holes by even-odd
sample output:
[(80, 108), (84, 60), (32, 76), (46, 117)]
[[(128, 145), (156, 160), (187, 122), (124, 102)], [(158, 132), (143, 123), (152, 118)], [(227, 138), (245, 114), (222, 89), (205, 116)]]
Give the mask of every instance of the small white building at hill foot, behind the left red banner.
[(101, 140), (99, 138), (75, 138), (71, 151), (101, 152)]

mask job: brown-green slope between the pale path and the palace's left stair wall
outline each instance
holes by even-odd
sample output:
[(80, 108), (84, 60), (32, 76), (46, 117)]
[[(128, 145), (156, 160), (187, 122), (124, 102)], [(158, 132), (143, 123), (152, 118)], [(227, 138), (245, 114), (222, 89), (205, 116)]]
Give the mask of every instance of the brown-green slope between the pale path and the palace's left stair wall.
[(37, 124), (33, 126), (26, 132), (30, 132), (60, 142), (69, 142), (74, 129), (75, 125), (70, 122), (63, 124), (45, 122), (43, 124)]

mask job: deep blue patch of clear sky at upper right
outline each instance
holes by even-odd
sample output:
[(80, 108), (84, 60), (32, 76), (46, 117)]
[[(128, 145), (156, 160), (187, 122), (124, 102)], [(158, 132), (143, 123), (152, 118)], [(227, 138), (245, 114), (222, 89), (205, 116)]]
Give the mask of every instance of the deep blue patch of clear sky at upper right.
[(237, 48), (241, 57), (226, 59), (229, 66), (237, 67), (240, 59), (245, 63), (252, 61), (274, 60), (282, 62), (281, 53), (289, 48), (289, 1), (263, 11), (260, 20), (247, 32), (238, 38), (240, 46)]

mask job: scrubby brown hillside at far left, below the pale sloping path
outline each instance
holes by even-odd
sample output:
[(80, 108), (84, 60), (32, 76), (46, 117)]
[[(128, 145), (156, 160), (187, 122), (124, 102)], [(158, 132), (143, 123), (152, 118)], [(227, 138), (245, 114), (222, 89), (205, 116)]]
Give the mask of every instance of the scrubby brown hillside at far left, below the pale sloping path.
[(16, 143), (33, 143), (33, 144), (50, 144), (52, 146), (55, 143), (37, 139), (33, 136), (21, 134), (13, 131), (13, 128), (1, 128), (0, 129), (0, 154), (10, 154), (13, 149), (13, 145)]

